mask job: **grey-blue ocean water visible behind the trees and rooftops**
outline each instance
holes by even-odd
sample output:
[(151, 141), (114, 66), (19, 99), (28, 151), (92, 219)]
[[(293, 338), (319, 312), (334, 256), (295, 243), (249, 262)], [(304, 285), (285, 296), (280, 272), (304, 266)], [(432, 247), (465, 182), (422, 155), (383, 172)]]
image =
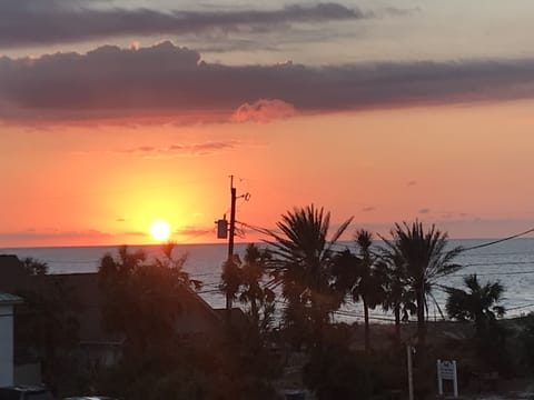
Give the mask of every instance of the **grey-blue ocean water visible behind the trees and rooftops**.
[[(492, 240), (468, 239), (449, 240), (451, 246), (466, 249)], [(235, 252), (243, 254), (246, 243), (237, 243)], [(379, 246), (379, 243), (376, 243)], [(337, 243), (337, 248), (353, 247), (350, 242)], [(161, 256), (159, 246), (131, 246), (131, 250), (142, 249), (149, 257)], [(57, 248), (12, 248), (0, 249), (0, 254), (17, 254), (19, 258), (33, 257), (46, 261), (51, 273), (96, 272), (99, 261), (106, 253), (117, 254), (118, 247), (57, 247)], [(220, 280), (221, 264), (227, 257), (227, 246), (217, 244), (179, 244), (175, 254), (187, 253), (185, 269), (191, 278), (204, 282), (200, 296), (212, 307), (222, 308), (225, 298), (217, 287)], [(464, 266), (458, 272), (438, 281), (443, 286), (462, 287), (465, 276), (477, 273), (482, 283), (498, 280), (505, 287), (504, 306), (506, 316), (514, 317), (534, 311), (534, 238), (518, 238), (497, 244), (463, 252), (457, 262)], [(429, 318), (439, 318), (438, 308), (444, 309), (445, 293), (436, 288), (434, 296), (437, 306), (429, 304)], [(346, 321), (362, 318), (362, 304), (346, 304), (337, 314)], [(382, 310), (372, 311), (377, 321), (385, 321), (392, 316)]]

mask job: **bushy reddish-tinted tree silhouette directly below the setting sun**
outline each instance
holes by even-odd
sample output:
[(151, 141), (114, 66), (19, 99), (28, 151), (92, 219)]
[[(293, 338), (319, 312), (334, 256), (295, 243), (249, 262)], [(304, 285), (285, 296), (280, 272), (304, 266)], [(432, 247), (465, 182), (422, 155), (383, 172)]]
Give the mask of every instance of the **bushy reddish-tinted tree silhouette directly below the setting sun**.
[(103, 318), (110, 331), (125, 337), (127, 356), (165, 357), (184, 297), (200, 287), (184, 271), (185, 257), (174, 259), (171, 246), (162, 250), (162, 259), (147, 262), (142, 251), (121, 247), (118, 258), (108, 253), (100, 262)]

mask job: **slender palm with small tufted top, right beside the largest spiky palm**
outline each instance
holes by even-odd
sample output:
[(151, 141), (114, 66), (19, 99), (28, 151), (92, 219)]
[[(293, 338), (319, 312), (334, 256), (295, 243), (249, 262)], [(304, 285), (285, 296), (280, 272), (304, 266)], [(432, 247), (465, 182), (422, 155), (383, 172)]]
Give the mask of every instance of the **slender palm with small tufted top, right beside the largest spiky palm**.
[(358, 256), (348, 250), (339, 254), (334, 266), (336, 277), (335, 287), (345, 297), (349, 294), (352, 300), (362, 300), (364, 306), (365, 323), (365, 351), (370, 349), (369, 337), (369, 308), (374, 309), (383, 301), (385, 291), (385, 276), (376, 266), (376, 257), (372, 253), (373, 233), (360, 229), (356, 231), (356, 244)]

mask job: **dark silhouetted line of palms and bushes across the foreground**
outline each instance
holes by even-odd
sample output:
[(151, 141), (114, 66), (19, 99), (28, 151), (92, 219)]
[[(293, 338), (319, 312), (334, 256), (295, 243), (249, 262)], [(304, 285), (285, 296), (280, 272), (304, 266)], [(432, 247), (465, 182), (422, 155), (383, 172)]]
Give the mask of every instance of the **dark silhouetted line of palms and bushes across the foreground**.
[[(350, 222), (330, 232), (329, 212), (297, 208), (281, 216), (268, 246), (249, 244), (225, 261), (219, 290), (241, 311), (219, 314), (215, 334), (179, 333), (177, 321), (191, 313), (187, 299), (202, 283), (184, 270), (186, 257), (174, 258), (171, 244), (155, 260), (126, 247), (106, 254), (98, 272), (101, 313), (106, 330), (121, 340), (121, 354), (115, 364), (80, 372), (76, 390), (131, 400), (277, 399), (288, 371), (298, 370), (299, 383), (320, 400), (404, 398), (406, 346), (416, 349), (417, 399), (434, 391), (439, 358), (458, 361), (464, 386), (487, 372), (533, 370), (534, 317), (517, 331), (503, 323), (500, 282), (483, 284), (469, 276), (462, 288), (443, 288), (444, 311), (462, 334), (436, 334), (441, 322), (427, 318), (433, 293), (441, 278), (462, 268), (456, 259), (463, 249), (448, 247), (445, 232), (405, 222), (388, 238), (358, 229), (353, 246), (339, 246)], [(383, 244), (373, 246), (374, 239)], [(37, 263), (27, 268), (43, 273)], [(362, 306), (363, 327), (336, 322), (346, 302)], [(32, 304), (26, 307), (38, 307)], [(369, 310), (376, 308), (390, 312), (394, 323), (372, 324)], [(46, 321), (32, 323), (57, 330)], [(27, 327), (24, 340), (38, 328)], [(56, 337), (53, 351), (39, 338), (34, 346), (46, 354), (70, 353), (72, 334)], [(48, 366), (48, 376), (60, 364)]]

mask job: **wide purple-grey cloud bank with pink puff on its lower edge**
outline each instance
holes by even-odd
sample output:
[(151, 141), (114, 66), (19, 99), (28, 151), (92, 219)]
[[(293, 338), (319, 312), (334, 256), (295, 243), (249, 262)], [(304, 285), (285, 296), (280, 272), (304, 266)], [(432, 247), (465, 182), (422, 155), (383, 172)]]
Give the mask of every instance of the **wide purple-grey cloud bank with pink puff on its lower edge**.
[(269, 107), (275, 117), (290, 117), (531, 98), (533, 83), (532, 59), (233, 67), (202, 62), (198, 52), (170, 42), (138, 50), (105, 46), (87, 54), (0, 58), (0, 119), (87, 121), (151, 114), (196, 119), (202, 114), (230, 120), (239, 110), (234, 120), (246, 121), (243, 112), (267, 112)]

